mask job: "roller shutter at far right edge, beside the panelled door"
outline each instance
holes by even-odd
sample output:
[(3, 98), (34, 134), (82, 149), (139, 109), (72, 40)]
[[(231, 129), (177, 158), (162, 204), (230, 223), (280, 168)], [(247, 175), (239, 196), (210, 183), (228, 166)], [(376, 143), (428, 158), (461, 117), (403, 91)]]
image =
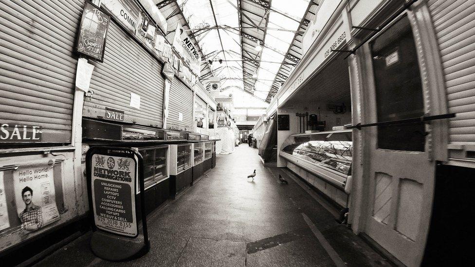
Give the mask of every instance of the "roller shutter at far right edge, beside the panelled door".
[(429, 0), (450, 112), (450, 142), (475, 144), (475, 0)]

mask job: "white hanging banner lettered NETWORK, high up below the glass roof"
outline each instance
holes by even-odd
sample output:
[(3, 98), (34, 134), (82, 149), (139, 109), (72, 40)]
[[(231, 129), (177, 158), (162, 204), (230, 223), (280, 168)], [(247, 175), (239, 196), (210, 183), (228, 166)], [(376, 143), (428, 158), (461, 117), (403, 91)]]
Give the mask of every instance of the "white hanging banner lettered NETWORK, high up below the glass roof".
[(173, 46), (184, 58), (186, 64), (190, 66), (191, 71), (200, 76), (201, 56), (191, 41), (190, 36), (188, 36), (186, 32), (183, 31), (180, 23), (177, 24), (175, 35), (173, 36)]

